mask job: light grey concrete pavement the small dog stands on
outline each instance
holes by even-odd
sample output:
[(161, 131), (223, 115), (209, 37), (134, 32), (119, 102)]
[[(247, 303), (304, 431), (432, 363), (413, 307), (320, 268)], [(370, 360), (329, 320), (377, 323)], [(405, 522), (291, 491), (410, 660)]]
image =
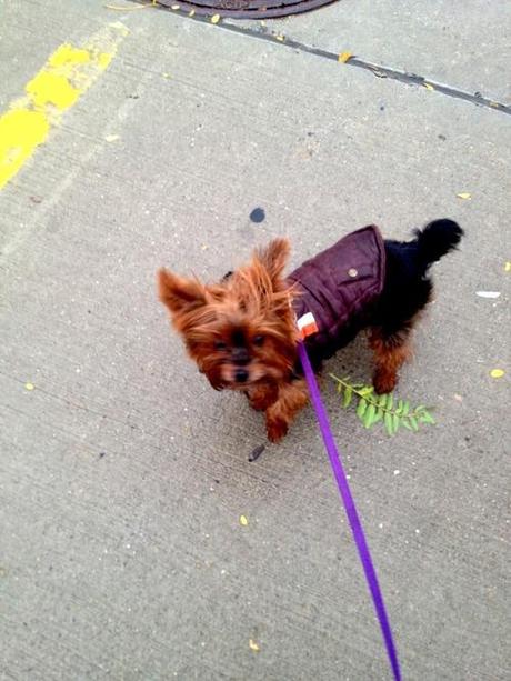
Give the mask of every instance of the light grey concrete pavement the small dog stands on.
[[(404, 238), (447, 216), (467, 238), (399, 387), (438, 425), (389, 439), (323, 393), (403, 678), (509, 679), (511, 119), (285, 43), (510, 104), (504, 3), (400, 6), (251, 26), (279, 43), (0, 3), (2, 112), (62, 43), (128, 29), (0, 191), (0, 679), (390, 678), (313, 414), (249, 463), (260, 414), (186, 359), (154, 273), (212, 279), (279, 234), (293, 266), (370, 222)], [(364, 343), (329, 369), (369, 380)]]

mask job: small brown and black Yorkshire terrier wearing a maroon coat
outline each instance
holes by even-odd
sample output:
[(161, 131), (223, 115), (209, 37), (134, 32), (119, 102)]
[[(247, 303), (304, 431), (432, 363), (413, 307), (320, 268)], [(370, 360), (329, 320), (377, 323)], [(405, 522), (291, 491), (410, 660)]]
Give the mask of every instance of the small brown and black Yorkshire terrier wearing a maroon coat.
[(244, 267), (204, 284), (161, 269), (160, 300), (188, 353), (216, 390), (244, 392), (264, 411), (278, 442), (308, 402), (298, 361), (297, 318), (312, 312), (317, 332), (304, 340), (317, 372), (321, 362), (369, 330), (377, 393), (391, 392), (411, 355), (410, 333), (430, 301), (430, 266), (455, 249), (463, 230), (435, 220), (411, 241), (381, 237), (374, 226), (348, 234), (283, 276), (290, 244), (274, 239)]

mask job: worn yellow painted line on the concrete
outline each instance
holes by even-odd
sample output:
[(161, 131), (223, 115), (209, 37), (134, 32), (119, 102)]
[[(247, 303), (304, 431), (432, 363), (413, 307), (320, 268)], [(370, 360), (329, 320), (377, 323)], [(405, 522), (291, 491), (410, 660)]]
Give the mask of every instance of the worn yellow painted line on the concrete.
[(46, 141), (63, 112), (108, 68), (128, 32), (126, 26), (116, 21), (80, 47), (61, 44), (27, 83), (24, 96), (11, 102), (0, 117), (0, 189)]

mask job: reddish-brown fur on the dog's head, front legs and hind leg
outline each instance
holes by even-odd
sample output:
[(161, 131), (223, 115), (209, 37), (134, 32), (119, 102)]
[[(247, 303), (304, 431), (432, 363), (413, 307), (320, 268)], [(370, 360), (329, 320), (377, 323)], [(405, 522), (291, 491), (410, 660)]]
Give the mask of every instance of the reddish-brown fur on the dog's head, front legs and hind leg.
[[(309, 399), (304, 380), (290, 380), (298, 336), (291, 308), (294, 291), (282, 278), (288, 254), (289, 242), (277, 239), (255, 251), (247, 267), (216, 284), (183, 279), (166, 269), (159, 272), (160, 300), (169, 308), (190, 357), (213, 388), (242, 391), (253, 409), (264, 411), (272, 442), (285, 435)], [(242, 383), (236, 381), (239, 367), (230, 357), (233, 330), (249, 345), (249, 377)], [(263, 338), (261, 345), (253, 342), (258, 337)], [(377, 390), (387, 392), (389, 385), (392, 390), (395, 372), (407, 357), (404, 347), (392, 348), (377, 331), (371, 347)]]

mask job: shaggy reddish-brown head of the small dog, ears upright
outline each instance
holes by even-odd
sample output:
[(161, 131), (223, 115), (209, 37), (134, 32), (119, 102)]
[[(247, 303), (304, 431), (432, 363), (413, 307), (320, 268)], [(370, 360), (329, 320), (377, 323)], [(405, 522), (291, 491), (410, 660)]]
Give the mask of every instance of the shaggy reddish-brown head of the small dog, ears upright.
[(282, 276), (288, 256), (289, 242), (275, 239), (216, 284), (159, 271), (160, 300), (217, 390), (288, 380), (298, 340), (293, 291)]

